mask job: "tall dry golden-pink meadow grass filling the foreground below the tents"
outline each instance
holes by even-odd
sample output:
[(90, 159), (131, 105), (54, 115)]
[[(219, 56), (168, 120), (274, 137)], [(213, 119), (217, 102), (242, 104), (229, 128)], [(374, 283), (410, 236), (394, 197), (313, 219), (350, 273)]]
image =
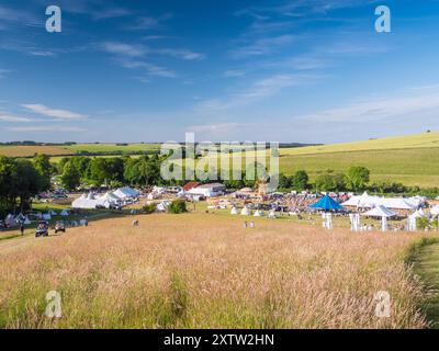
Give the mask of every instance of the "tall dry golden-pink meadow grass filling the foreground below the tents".
[[(0, 242), (7, 328), (423, 328), (408, 234), (325, 231), (212, 214), (105, 219)], [(10, 240), (5, 240), (10, 241)], [(45, 294), (63, 318), (44, 317)], [(373, 296), (389, 291), (390, 318)]]

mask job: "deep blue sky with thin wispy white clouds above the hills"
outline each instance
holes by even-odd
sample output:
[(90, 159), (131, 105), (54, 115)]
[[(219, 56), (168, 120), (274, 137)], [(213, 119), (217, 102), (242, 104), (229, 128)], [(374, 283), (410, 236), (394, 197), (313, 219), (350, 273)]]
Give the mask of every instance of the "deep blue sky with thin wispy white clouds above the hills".
[[(380, 4), (392, 33), (374, 30)], [(0, 141), (439, 129), (438, 43), (438, 0), (1, 0)]]

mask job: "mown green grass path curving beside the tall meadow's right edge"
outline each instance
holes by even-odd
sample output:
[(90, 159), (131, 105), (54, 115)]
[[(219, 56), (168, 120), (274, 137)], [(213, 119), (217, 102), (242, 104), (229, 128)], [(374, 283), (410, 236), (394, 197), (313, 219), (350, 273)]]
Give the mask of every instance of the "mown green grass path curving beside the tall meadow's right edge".
[(439, 329), (439, 242), (421, 247), (414, 264), (415, 272), (428, 288), (424, 313), (431, 328)]

